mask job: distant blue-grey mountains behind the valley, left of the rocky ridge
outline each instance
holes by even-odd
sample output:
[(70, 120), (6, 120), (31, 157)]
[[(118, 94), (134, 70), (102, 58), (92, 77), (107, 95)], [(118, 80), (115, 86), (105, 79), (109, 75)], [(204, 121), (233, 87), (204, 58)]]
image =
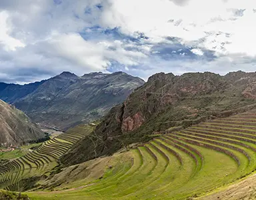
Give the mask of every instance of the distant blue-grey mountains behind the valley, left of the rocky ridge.
[(123, 72), (78, 77), (65, 71), (29, 85), (0, 85), (0, 98), (41, 125), (66, 130), (99, 119), (144, 83)]

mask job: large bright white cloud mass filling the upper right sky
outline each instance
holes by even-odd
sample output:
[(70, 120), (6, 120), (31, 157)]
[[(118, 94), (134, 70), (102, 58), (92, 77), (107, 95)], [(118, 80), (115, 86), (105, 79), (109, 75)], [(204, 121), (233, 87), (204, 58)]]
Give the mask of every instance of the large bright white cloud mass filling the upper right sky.
[[(141, 31), (157, 43), (166, 36), (180, 37), (185, 44), (205, 38), (201, 47), (217, 53), (256, 55), (253, 8), (256, 1), (251, 0), (190, 0), (184, 6), (169, 0), (113, 0), (111, 8), (103, 14), (106, 17), (102, 23), (119, 26), (123, 33)], [(234, 15), (236, 9), (245, 9), (242, 17)], [(229, 33), (230, 37), (215, 34), (219, 32)]]

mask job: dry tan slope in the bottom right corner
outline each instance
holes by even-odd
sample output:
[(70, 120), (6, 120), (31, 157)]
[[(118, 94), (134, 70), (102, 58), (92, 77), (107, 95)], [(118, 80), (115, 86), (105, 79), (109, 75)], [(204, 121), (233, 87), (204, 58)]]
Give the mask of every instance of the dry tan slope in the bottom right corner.
[(225, 189), (199, 197), (198, 200), (249, 200), (256, 199), (256, 173)]

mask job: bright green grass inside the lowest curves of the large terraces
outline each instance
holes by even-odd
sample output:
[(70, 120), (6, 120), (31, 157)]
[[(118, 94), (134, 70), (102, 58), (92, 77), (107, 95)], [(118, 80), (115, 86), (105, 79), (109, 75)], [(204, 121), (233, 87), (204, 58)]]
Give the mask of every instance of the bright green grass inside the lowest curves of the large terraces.
[[(147, 145), (157, 155), (158, 161), (155, 163), (153, 157), (143, 147), (139, 147), (144, 158), (144, 165), (138, 163), (137, 167), (130, 171), (129, 175), (127, 174), (127, 177), (123, 175), (123, 178), (120, 177), (119, 181), (113, 182), (112, 180), (112, 183), (110, 183), (112, 187), (103, 189), (103, 187), (99, 188), (92, 185), (91, 189), (88, 187), (88, 189), (77, 189), (68, 192), (58, 191), (57, 193), (33, 192), (28, 193), (28, 195), (31, 199), (102, 199), (103, 197), (104, 199), (182, 198), (191, 195), (191, 191), (201, 193), (216, 187), (216, 185), (221, 186), (226, 181), (228, 183), (231, 177), (226, 175), (233, 175), (237, 171), (235, 161), (224, 153), (191, 145), (191, 147), (201, 152), (205, 159), (203, 167), (197, 171), (196, 175), (193, 175), (196, 166), (195, 161), (189, 155), (162, 142), (181, 155), (183, 165), (180, 165), (177, 157), (170, 151), (167, 151), (167, 149), (164, 149), (155, 142), (152, 143), (167, 155), (169, 161), (159, 151)], [(215, 162), (216, 159), (218, 162)], [(225, 166), (225, 171), (223, 171), (223, 166)], [(135, 169), (137, 169), (137, 173), (134, 171)], [(111, 179), (112, 175), (108, 177)]]

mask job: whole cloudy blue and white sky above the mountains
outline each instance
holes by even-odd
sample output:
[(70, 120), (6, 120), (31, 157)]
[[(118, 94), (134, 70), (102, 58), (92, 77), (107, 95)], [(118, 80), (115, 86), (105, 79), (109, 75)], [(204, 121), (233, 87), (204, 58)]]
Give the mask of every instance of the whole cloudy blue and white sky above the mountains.
[(256, 71), (255, 0), (1, 0), (0, 81)]

